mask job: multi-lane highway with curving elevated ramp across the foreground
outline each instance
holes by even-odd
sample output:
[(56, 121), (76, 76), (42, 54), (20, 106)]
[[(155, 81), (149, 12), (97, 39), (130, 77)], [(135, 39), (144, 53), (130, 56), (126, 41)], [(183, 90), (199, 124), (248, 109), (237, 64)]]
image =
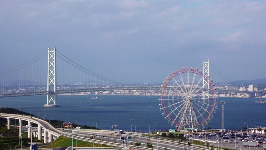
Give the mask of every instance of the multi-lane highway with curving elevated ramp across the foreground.
[[(38, 126), (41, 126), (44, 128), (47, 132), (50, 132), (56, 137), (59, 137), (60, 135), (66, 136), (69, 138), (77, 139), (77, 140), (82, 140), (82, 141), (87, 141), (91, 143), (97, 143), (97, 144), (106, 144), (106, 145), (111, 145), (116, 148), (133, 148), (134, 150), (143, 150), (147, 149), (146, 148), (146, 143), (151, 143), (153, 146), (153, 149), (155, 150), (182, 150), (187, 149), (187, 150), (202, 150), (203, 148), (200, 148), (200, 144), (193, 145), (193, 146), (188, 146), (187, 142), (183, 143), (178, 143), (177, 141), (174, 140), (167, 140), (162, 137), (156, 136), (150, 137), (148, 136), (143, 136), (141, 133), (133, 133), (133, 132), (125, 132), (124, 134), (119, 134), (119, 133), (114, 133), (114, 131), (110, 130), (91, 130), (91, 129), (58, 129), (53, 127), (52, 125), (49, 124), (49, 122), (38, 119), (35, 117), (30, 117), (30, 116), (22, 116), (22, 115), (17, 115), (17, 114), (0, 114), (1, 118), (13, 118), (13, 119), (21, 119), (24, 121), (30, 121), (34, 124), (37, 124)], [(36, 128), (33, 128), (33, 131), (36, 131)], [(43, 134), (43, 133), (42, 133)], [(124, 145), (121, 140), (121, 137), (131, 137), (127, 139), (126, 145)], [(220, 138), (221, 139), (221, 138)], [(239, 141), (238, 139), (230, 139), (233, 141), (237, 142), (232, 142), (229, 143), (227, 141), (224, 141), (222, 139), (221, 141), (218, 142), (218, 137), (212, 136), (210, 139), (199, 139), (198, 136), (193, 136), (193, 139), (191, 140), (198, 140), (198, 141), (206, 141), (209, 143), (209, 148), (204, 148), (204, 149), (210, 149), (211, 145), (214, 147), (218, 147), (219, 149), (221, 147), (223, 148), (229, 148), (229, 149), (239, 149), (239, 150), (263, 150), (262, 146), (261, 147), (255, 147), (255, 148), (249, 148), (249, 147), (244, 147), (243, 142)], [(135, 142), (140, 142), (141, 146), (136, 147)], [(75, 147), (75, 145), (74, 145)], [(216, 149), (218, 150), (218, 149)]]

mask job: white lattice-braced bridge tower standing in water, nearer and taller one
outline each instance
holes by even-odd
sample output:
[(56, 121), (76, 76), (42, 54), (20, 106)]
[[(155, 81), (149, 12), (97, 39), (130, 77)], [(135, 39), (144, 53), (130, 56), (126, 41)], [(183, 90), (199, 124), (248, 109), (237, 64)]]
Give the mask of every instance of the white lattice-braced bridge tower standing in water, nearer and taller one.
[[(44, 107), (60, 106), (59, 104), (56, 104), (56, 85), (56, 48), (54, 48), (54, 50), (48, 48), (47, 103), (44, 104)], [(50, 102), (54, 102), (54, 104), (49, 104)]]

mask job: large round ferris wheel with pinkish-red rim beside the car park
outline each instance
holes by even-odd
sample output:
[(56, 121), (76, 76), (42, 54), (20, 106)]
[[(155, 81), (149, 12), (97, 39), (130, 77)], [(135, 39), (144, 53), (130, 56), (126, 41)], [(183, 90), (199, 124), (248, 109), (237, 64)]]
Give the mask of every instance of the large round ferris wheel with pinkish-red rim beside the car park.
[(161, 85), (159, 106), (162, 115), (175, 129), (200, 128), (216, 112), (216, 92), (212, 80), (198, 69), (173, 71)]

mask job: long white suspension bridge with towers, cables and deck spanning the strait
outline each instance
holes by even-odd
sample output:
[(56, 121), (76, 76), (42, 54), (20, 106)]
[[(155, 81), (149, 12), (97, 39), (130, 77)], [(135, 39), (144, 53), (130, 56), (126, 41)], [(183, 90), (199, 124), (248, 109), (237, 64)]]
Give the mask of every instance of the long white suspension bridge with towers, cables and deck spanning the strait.
[[(209, 76), (209, 61), (203, 63), (203, 73)], [(48, 65), (45, 52), (0, 75), (1, 98), (47, 95), (45, 107), (59, 107), (56, 103), (57, 94), (81, 92), (92, 94), (99, 91), (159, 90), (160, 88), (159, 85), (135, 86), (109, 80), (71, 61), (56, 48), (52, 50), (48, 48)], [(228, 90), (221, 91), (228, 92)]]

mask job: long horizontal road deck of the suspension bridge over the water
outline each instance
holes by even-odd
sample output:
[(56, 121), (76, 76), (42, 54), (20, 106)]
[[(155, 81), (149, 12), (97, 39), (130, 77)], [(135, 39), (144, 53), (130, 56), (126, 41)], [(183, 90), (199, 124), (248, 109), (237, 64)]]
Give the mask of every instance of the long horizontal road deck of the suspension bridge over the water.
[[(115, 90), (158, 90), (159, 91), (160, 89), (161, 89), (160, 86), (101, 87), (101, 88), (57, 90), (57, 94), (96, 92), (96, 91), (115, 91)], [(217, 89), (216, 92), (247, 93), (251, 97), (255, 96), (255, 92), (248, 92), (248, 91), (232, 91), (232, 90)], [(26, 93), (1, 93), (0, 98), (17, 97), (17, 96), (32, 96), (32, 95), (48, 95), (48, 94), (54, 94), (54, 92), (53, 91), (37, 91), (37, 92), (26, 92)]]

